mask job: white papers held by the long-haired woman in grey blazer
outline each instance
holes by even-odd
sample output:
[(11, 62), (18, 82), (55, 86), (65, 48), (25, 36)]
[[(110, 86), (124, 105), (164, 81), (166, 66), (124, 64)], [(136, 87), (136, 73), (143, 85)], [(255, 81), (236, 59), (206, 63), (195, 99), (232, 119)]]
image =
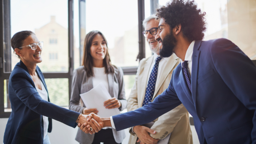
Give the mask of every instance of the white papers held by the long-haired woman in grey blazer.
[(80, 94), (80, 96), (88, 109), (96, 108), (99, 111), (98, 116), (100, 117), (110, 117), (120, 114), (118, 108), (106, 109), (105, 106), (103, 106), (106, 100), (111, 99), (111, 96), (102, 83), (98, 84), (90, 91)]

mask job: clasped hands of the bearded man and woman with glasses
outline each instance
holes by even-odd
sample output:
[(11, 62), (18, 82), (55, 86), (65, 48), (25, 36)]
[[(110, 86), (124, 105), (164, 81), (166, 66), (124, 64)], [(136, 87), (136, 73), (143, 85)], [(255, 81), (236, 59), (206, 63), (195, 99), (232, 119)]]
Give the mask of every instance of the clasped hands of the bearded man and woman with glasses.
[(90, 113), (87, 116), (81, 115), (77, 126), (80, 127), (80, 129), (86, 134), (94, 134), (95, 132), (99, 132), (104, 127), (112, 127), (109, 117), (101, 118), (94, 113)]

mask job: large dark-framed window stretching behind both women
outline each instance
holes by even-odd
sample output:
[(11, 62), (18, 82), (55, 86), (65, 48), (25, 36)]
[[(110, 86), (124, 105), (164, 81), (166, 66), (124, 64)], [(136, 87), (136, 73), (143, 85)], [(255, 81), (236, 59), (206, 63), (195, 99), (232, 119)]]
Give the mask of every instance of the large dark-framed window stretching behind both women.
[[(139, 60), (136, 61), (137, 55), (143, 50), (138, 33), (142, 32), (139, 25), (144, 13), (140, 13), (138, 18), (138, 7), (142, 5), (138, 5), (137, 0), (1, 2), (0, 23), (3, 23), (1, 26), (4, 31), (1, 33), (3, 41), (0, 46), (0, 117), (9, 117), (11, 112), (8, 79), (20, 59), (13, 53), (10, 39), (22, 30), (34, 32), (44, 42), (41, 53), (43, 61), (38, 66), (44, 74), (52, 103), (64, 107), (69, 105), (72, 72), (82, 64), (83, 41), (91, 30), (99, 30), (106, 36), (112, 64), (123, 67), (125, 89), (128, 91), (126, 97), (129, 96), (139, 63)], [(95, 11), (99, 8), (101, 11)], [(109, 19), (111, 15), (119, 19)], [(138, 59), (145, 57), (143, 53), (139, 55)]]

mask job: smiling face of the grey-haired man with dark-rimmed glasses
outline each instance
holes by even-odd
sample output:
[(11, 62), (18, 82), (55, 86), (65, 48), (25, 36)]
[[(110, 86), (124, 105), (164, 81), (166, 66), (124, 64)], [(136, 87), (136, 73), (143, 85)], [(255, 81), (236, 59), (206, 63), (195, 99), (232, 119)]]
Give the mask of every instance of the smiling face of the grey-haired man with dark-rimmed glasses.
[[(145, 30), (150, 30), (151, 28), (158, 27), (158, 24), (159, 24), (158, 21), (155, 21), (155, 19), (151, 19), (150, 21), (147, 22)], [(157, 30), (157, 32), (158, 32), (158, 30)], [(155, 36), (156, 35), (151, 35), (148, 32), (148, 34), (146, 35), (146, 40), (149, 43), (150, 50), (153, 53), (159, 54), (159, 44), (155, 40)]]

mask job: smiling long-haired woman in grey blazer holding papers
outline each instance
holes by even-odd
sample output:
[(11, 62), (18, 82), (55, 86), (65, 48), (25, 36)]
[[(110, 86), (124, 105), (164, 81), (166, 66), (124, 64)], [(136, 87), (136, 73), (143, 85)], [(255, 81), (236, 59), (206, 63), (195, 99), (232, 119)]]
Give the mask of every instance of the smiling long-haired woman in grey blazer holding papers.
[[(73, 72), (69, 109), (83, 114), (97, 114), (97, 109), (87, 109), (83, 102), (80, 105), (80, 94), (88, 92), (99, 83), (103, 83), (112, 97), (102, 105), (108, 109), (118, 108), (120, 111), (126, 108), (123, 71), (111, 65), (104, 35), (99, 31), (91, 31), (85, 37), (83, 66)], [(119, 144), (124, 138), (124, 130), (117, 132), (111, 127), (92, 135), (79, 129), (76, 135), (76, 141), (80, 144)]]

